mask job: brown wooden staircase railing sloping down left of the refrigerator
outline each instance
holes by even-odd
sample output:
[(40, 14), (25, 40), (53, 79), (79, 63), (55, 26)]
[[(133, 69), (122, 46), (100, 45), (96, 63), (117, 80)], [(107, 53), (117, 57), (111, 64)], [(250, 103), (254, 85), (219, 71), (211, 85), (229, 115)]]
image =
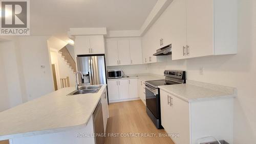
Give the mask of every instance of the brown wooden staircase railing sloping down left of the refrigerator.
[(61, 54), (61, 57), (64, 58), (65, 61), (67, 61), (67, 64), (74, 71), (74, 73), (76, 73), (76, 62), (70, 55), (67, 47), (64, 46), (61, 50), (59, 50), (59, 53)]

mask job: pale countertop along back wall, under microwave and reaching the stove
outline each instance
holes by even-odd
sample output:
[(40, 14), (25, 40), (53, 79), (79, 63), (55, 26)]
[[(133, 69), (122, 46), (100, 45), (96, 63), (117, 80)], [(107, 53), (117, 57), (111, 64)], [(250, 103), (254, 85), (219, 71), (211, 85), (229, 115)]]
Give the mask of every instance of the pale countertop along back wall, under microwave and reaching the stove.
[(160, 75), (154, 75), (154, 74), (134, 74), (134, 75), (127, 75), (129, 77), (123, 77), (120, 79), (108, 79), (108, 81), (113, 81), (113, 80), (121, 80), (121, 79), (140, 79), (142, 81), (154, 81), (154, 80), (163, 80), (164, 76)]

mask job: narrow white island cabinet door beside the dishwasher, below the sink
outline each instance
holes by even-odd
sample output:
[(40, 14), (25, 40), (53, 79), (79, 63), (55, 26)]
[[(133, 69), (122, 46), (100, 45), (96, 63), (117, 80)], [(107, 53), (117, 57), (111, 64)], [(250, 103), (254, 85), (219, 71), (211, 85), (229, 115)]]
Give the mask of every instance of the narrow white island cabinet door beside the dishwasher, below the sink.
[(108, 94), (106, 93), (106, 91), (101, 95), (101, 104), (102, 104), (104, 132), (106, 132), (106, 124), (108, 123), (108, 117), (109, 117)]

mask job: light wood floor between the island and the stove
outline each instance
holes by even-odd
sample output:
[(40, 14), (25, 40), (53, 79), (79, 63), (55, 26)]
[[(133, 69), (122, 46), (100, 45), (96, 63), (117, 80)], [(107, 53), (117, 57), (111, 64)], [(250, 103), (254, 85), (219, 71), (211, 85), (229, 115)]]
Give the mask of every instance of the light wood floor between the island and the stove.
[(105, 143), (171, 143), (169, 137), (110, 137), (112, 133), (159, 133), (165, 134), (163, 129), (158, 130), (147, 116), (145, 105), (141, 100), (111, 103), (109, 105), (109, 119), (106, 128)]

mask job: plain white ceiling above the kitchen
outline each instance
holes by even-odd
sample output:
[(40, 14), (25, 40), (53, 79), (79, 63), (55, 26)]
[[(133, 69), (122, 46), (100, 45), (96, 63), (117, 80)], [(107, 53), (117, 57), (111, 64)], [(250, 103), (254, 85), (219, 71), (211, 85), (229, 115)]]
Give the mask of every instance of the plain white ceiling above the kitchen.
[(157, 0), (33, 0), (31, 35), (53, 35), (69, 28), (139, 30)]

